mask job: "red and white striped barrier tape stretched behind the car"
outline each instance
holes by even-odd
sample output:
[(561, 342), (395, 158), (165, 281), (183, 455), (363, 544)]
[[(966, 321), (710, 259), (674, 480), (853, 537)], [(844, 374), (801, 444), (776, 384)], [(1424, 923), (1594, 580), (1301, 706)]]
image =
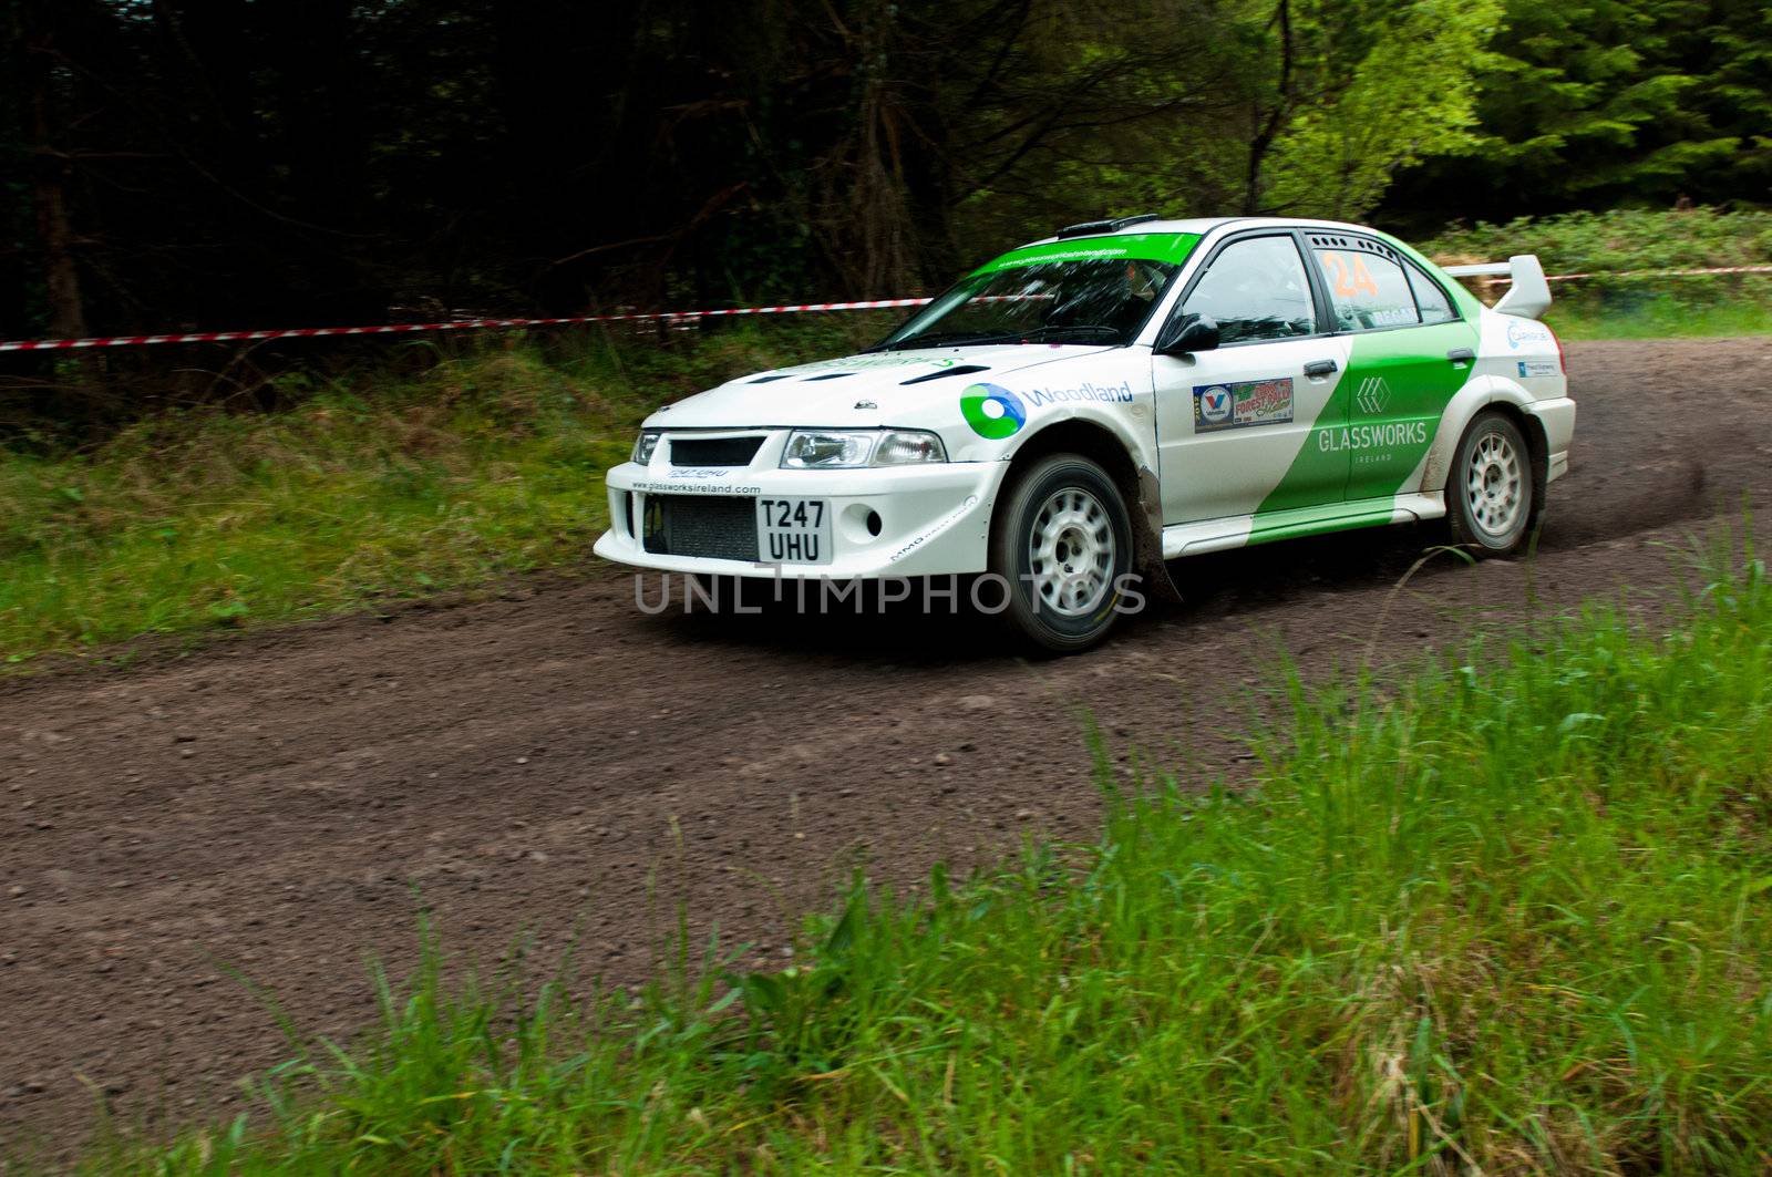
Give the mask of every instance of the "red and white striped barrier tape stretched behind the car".
[[(1694, 278), (1724, 273), (1772, 273), (1772, 266), (1715, 266), (1710, 269), (1625, 269), (1620, 273), (1556, 273), (1545, 282), (1577, 278)], [(1490, 282), (1510, 282), (1506, 277)], [(1014, 296), (1003, 296), (1014, 298)], [(186, 331), (183, 335), (99, 335), (94, 339), (12, 339), (0, 340), (0, 351), (73, 351), (78, 347), (140, 347), (145, 344), (230, 344), (266, 339), (319, 339), (323, 335), (408, 335), (415, 331), (478, 331), (514, 326), (571, 326), (574, 323), (688, 323), (693, 319), (734, 319), (739, 316), (787, 316), (815, 310), (893, 310), (921, 307), (927, 298), (874, 298), (859, 303), (797, 303), (792, 307), (735, 307), (730, 310), (654, 310), (620, 316), (565, 316), (560, 319), (457, 319), (454, 323), (399, 323), (393, 326), (301, 326), (280, 331)]]

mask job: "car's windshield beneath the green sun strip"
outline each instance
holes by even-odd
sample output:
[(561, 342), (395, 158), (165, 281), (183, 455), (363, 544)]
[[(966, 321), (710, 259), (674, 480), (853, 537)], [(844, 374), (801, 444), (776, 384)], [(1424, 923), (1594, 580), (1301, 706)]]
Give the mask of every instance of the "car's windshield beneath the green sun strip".
[(962, 278), (875, 351), (1132, 342), (1180, 266), (1136, 257), (1037, 261)]

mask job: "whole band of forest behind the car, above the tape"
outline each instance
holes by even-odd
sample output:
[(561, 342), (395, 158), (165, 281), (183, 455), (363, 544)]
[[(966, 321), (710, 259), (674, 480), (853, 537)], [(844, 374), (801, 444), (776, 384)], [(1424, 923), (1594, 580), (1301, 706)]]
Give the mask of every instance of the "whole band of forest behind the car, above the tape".
[(1102, 214), (1426, 234), (1772, 188), (1758, 0), (7, 0), (4, 21), (0, 339), (881, 298)]

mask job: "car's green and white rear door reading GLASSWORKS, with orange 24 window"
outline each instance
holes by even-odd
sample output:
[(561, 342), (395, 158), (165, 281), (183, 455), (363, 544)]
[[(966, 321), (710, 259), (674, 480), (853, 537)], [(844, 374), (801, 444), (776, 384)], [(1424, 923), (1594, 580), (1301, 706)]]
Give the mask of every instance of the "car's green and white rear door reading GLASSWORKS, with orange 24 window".
[(1336, 331), (1348, 342), (1347, 425), (1320, 445), (1347, 457), (1352, 502), (1425, 489), (1421, 459), (1476, 367), (1476, 324), (1382, 241), (1311, 230), (1308, 243)]

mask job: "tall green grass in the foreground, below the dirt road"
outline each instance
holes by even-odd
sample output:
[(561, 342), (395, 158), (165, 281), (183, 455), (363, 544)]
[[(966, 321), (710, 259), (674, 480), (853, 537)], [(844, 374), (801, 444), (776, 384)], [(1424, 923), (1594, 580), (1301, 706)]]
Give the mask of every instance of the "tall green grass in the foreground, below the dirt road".
[(1099, 842), (858, 881), (778, 973), (578, 1003), (432, 947), (259, 1120), (89, 1170), (1765, 1172), (1772, 585), (1708, 567), (1666, 636), (1294, 684), (1251, 792), (1100, 757)]

